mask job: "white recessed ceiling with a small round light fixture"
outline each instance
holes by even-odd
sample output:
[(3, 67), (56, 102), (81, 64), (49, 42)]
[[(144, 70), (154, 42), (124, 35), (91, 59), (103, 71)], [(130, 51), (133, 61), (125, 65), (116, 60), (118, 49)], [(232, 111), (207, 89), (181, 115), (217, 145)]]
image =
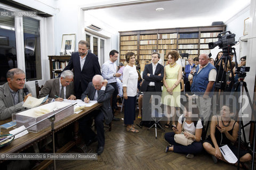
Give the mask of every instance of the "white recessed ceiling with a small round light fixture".
[[(85, 13), (117, 31), (196, 27), (226, 22), (250, 5), (250, 0), (173, 0), (101, 8)], [(155, 9), (163, 7), (164, 11)]]

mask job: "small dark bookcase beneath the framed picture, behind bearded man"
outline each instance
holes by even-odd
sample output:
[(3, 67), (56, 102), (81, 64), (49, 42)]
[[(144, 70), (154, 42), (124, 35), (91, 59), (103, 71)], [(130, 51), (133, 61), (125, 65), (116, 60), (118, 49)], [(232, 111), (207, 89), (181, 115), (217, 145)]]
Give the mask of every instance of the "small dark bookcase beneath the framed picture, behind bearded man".
[(57, 78), (59, 73), (68, 65), (70, 60), (69, 55), (49, 55), (49, 64), (50, 64), (50, 77), (51, 79)]

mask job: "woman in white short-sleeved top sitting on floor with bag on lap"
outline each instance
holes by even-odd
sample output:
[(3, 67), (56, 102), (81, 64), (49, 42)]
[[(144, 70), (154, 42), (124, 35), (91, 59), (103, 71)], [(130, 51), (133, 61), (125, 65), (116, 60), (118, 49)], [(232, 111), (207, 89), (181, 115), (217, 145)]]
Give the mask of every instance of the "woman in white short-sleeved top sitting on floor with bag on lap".
[[(194, 104), (194, 106), (196, 105)], [(189, 103), (185, 104), (183, 114), (179, 117), (177, 128), (173, 127), (173, 132), (168, 132), (164, 135), (165, 140), (170, 143), (170, 146), (166, 147), (165, 152), (174, 151), (187, 154), (187, 158), (193, 158), (194, 154), (203, 150), (201, 142), (203, 125), (201, 119), (198, 118), (198, 113), (199, 111), (197, 107), (190, 106), (189, 108)], [(182, 131), (184, 131), (186, 138), (194, 140), (191, 145), (183, 146), (174, 141), (174, 135), (180, 134)]]

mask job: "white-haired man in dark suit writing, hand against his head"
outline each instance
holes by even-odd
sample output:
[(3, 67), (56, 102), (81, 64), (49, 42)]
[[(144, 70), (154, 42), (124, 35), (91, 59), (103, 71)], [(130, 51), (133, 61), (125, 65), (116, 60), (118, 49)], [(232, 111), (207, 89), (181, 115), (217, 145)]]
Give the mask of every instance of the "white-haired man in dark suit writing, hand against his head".
[[(81, 99), (85, 103), (89, 103), (90, 100), (97, 100), (98, 103), (102, 103), (102, 106), (98, 110), (94, 110), (89, 115), (85, 116), (79, 121), (79, 129), (86, 135), (86, 145), (89, 146), (91, 143), (98, 139), (98, 155), (102, 154), (105, 145), (105, 134), (103, 121), (109, 124), (112, 121), (113, 113), (110, 106), (110, 98), (114, 92), (114, 88), (108, 84), (108, 81), (101, 75), (95, 75), (92, 82), (89, 83), (87, 89), (82, 94)], [(92, 131), (92, 118), (94, 117), (94, 124), (97, 128), (97, 135)]]

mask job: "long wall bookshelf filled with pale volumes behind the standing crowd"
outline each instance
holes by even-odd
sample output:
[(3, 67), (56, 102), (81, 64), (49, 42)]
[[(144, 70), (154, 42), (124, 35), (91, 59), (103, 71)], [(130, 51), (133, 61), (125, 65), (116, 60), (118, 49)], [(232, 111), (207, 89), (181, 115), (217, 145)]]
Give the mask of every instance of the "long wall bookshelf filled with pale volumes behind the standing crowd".
[[(150, 63), (151, 53), (156, 51), (165, 55), (170, 50), (178, 50), (180, 54), (188, 53), (197, 57), (202, 53), (210, 53), (208, 43), (218, 41), (218, 33), (225, 31), (226, 25), (206, 27), (187, 27), (154, 30), (121, 31), (120, 62), (125, 64), (125, 54), (134, 52), (138, 57), (141, 71)], [(167, 61), (164, 61), (166, 64)]]

